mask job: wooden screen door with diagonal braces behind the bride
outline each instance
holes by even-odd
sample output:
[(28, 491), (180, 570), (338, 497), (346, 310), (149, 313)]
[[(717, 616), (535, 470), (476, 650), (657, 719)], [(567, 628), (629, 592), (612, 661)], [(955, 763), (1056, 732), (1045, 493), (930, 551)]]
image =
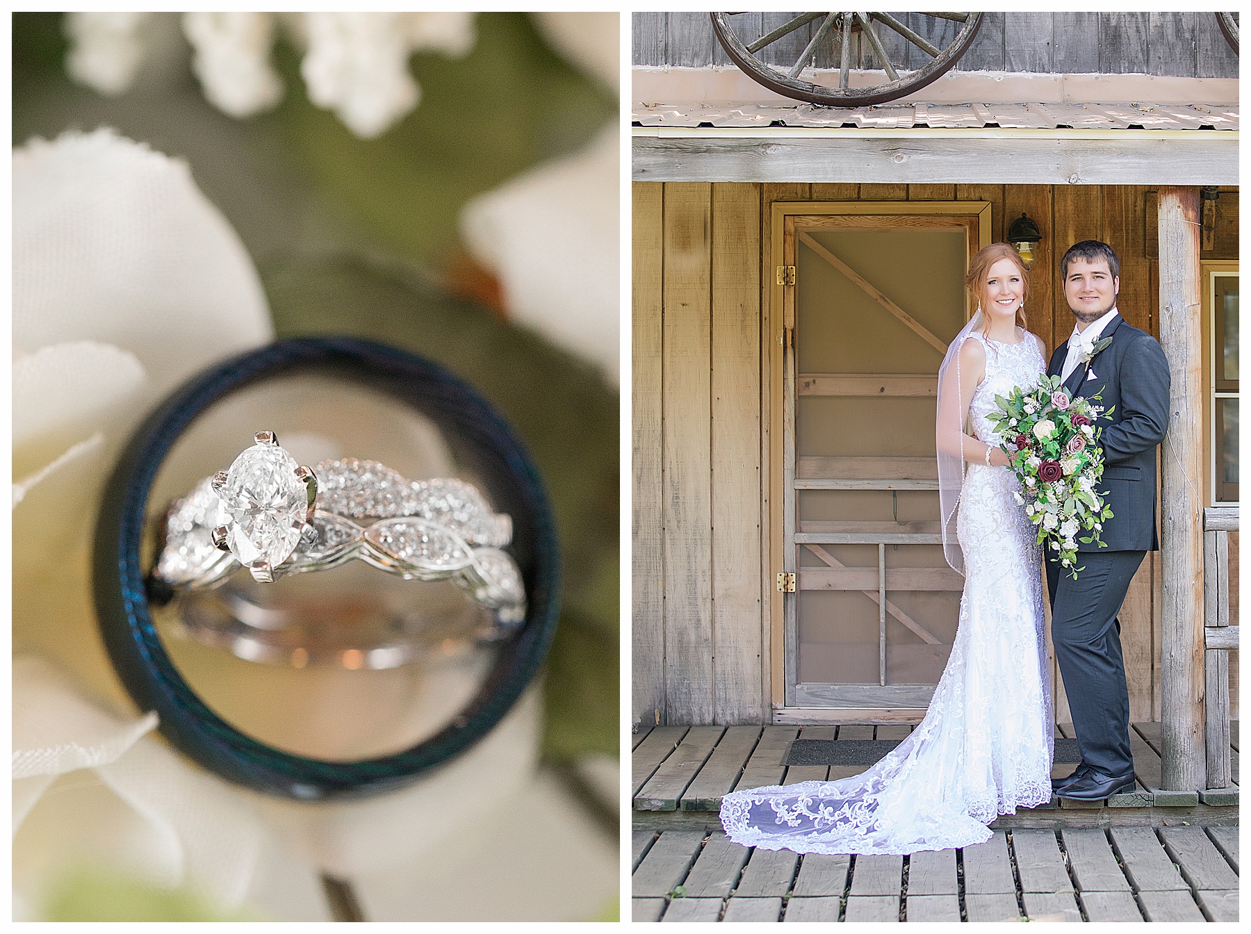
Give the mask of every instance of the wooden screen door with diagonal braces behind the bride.
[(919, 719), (963, 586), (938, 531), (937, 374), (990, 205), (778, 204), (774, 221), (784, 708)]

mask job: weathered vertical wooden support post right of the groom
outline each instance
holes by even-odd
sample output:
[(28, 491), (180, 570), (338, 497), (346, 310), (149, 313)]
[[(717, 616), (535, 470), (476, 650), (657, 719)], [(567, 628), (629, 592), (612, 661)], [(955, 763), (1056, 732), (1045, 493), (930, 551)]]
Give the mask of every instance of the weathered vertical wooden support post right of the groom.
[(1158, 230), (1160, 344), (1172, 383), (1161, 449), (1161, 784), (1197, 791), (1207, 786), (1197, 188), (1160, 188)]

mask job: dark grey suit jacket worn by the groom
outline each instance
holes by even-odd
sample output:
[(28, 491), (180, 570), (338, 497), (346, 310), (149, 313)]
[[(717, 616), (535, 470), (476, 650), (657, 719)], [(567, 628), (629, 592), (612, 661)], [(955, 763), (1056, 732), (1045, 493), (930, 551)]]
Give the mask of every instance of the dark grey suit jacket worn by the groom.
[[(1103, 434), (1103, 481), (1100, 491), (1113, 516), (1103, 523), (1106, 549), (1078, 543), (1078, 551), (1155, 551), (1156, 445), (1168, 424), (1168, 360), (1160, 343), (1116, 315), (1101, 338), (1112, 343), (1088, 365), (1078, 365), (1065, 386), (1073, 398), (1101, 396), (1096, 405), (1112, 409), (1096, 424)], [(1048, 376), (1065, 368), (1068, 343), (1051, 355)]]

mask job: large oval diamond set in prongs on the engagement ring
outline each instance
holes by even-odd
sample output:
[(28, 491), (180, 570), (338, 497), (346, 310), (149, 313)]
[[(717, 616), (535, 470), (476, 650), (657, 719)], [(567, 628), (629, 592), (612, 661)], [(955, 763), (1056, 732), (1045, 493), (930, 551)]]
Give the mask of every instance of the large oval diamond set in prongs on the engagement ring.
[(308, 488), (295, 458), (276, 444), (249, 448), (230, 465), (218, 498), (226, 513), (226, 544), (239, 564), (276, 568), (295, 549), (308, 516)]

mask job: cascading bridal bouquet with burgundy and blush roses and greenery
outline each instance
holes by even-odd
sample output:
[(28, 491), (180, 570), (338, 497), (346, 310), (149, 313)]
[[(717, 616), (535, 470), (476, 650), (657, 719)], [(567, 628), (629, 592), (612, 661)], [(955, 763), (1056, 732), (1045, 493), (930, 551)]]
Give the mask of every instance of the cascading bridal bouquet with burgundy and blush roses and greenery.
[[(1095, 423), (1105, 413), (1091, 399), (1070, 399), (1060, 376), (1041, 376), (1032, 389), (1017, 386), (1006, 399), (995, 396), (1000, 410), (987, 415), (998, 425), (1008, 464), (1021, 479), (1022, 491), (1015, 496), (1038, 526), (1038, 543), (1058, 551), (1075, 579), (1082, 570), (1073, 566), (1077, 543), (1102, 548), (1102, 523), (1112, 518), (1095, 489), (1103, 475), (1103, 449), (1097, 445), (1102, 429)], [(1090, 534), (1077, 538), (1082, 531)]]

